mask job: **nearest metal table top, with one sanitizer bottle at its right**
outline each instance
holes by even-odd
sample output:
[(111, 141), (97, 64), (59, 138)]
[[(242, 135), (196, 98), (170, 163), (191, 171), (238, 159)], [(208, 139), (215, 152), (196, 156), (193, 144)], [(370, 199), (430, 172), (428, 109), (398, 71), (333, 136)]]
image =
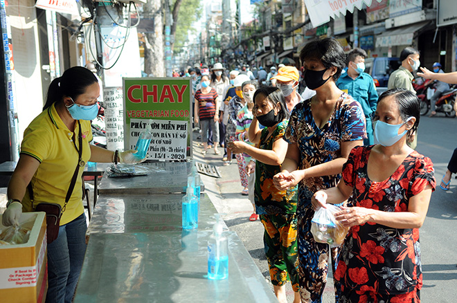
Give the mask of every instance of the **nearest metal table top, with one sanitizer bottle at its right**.
[(210, 233), (91, 235), (73, 302), (278, 302), (235, 232), (228, 279), (206, 277)]

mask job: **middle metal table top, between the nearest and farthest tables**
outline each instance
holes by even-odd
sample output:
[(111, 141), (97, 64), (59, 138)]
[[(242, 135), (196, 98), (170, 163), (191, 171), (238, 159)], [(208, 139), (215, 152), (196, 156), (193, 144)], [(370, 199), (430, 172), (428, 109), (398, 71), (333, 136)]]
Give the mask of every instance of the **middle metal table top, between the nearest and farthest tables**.
[[(138, 177), (139, 178), (139, 177)], [(101, 194), (88, 234), (181, 230), (184, 194)], [(217, 213), (207, 194), (200, 195), (199, 230), (210, 230)]]

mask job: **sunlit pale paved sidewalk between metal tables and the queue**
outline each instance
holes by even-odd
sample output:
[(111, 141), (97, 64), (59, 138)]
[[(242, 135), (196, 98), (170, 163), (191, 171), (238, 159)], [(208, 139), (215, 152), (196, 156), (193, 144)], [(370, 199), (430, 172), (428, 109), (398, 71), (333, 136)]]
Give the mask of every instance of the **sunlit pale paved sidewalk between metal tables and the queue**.
[[(242, 196), (243, 187), (240, 183), (240, 174), (236, 159), (232, 160), (231, 165), (222, 165), (223, 149), (219, 147), (220, 155), (215, 155), (213, 149), (208, 149), (208, 153), (203, 156), (199, 147), (200, 140), (197, 140), (198, 133), (193, 132), (193, 152), (197, 161), (215, 165), (219, 169), (222, 178), (213, 178), (201, 174), (201, 180), (205, 185), (205, 192), (210, 197), (219, 213), (225, 213), (223, 217), (230, 230), (238, 233), (243, 241), (253, 261), (258, 266), (262, 275), (271, 285), (267, 258), (265, 257), (263, 245), (264, 228), (260, 221), (249, 221), (249, 216), (253, 212), (251, 202), (247, 196)], [(287, 283), (287, 298), (289, 302), (294, 300), (294, 292), (290, 283)], [(273, 291), (273, 286), (271, 286)], [(328, 285), (325, 287), (323, 303), (334, 302), (333, 282), (329, 275)]]

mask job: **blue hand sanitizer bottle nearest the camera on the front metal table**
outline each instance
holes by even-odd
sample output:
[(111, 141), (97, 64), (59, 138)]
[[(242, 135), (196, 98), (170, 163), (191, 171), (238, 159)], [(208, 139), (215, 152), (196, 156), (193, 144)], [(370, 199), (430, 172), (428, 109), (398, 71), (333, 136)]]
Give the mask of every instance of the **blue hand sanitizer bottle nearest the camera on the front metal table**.
[(208, 239), (208, 279), (222, 280), (228, 277), (228, 241), (223, 234), (220, 214), (215, 217), (213, 235)]

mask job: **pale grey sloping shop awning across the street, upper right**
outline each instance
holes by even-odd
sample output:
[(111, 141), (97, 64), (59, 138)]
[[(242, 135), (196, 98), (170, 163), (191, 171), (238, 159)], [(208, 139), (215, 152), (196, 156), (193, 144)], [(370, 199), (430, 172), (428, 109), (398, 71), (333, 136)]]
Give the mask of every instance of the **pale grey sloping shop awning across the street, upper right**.
[(410, 45), (413, 43), (414, 34), (429, 23), (429, 21), (424, 21), (408, 26), (401, 26), (394, 30), (386, 30), (376, 37), (376, 47)]

